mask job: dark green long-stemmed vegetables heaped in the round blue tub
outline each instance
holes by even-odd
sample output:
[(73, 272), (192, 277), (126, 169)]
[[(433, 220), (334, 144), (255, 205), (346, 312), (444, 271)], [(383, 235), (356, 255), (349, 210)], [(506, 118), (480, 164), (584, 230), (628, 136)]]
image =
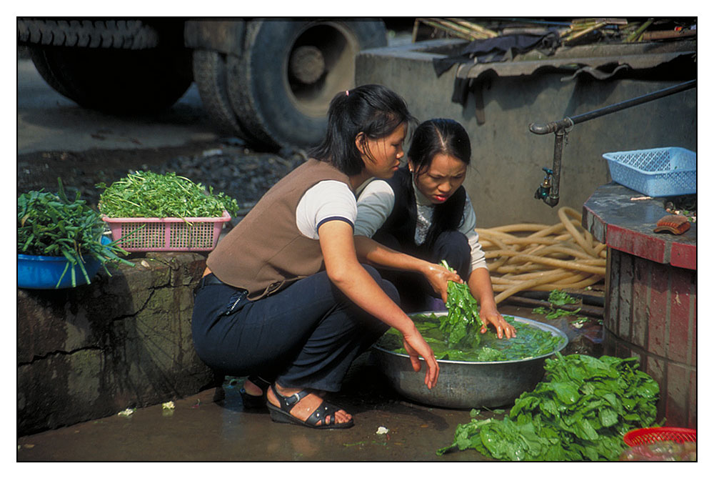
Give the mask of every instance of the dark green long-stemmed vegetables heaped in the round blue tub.
[[(79, 199), (76, 191), (74, 200), (69, 200), (58, 179), (59, 191), (31, 191), (20, 194), (17, 198), (17, 253), (31, 256), (64, 257), (67, 264), (57, 282), (64, 279), (70, 266), (79, 266), (86, 282), (91, 281), (84, 267), (87, 259), (94, 258), (101, 262), (104, 271), (106, 262), (123, 262), (117, 254), (127, 254), (116, 242), (102, 244), (104, 222), (99, 212)], [(72, 286), (76, 287), (75, 269), (71, 269)]]

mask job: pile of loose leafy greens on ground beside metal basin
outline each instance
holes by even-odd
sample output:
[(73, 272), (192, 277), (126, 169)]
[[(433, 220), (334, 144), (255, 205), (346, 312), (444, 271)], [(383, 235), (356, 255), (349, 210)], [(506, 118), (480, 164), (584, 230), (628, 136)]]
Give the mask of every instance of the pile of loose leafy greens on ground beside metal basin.
[[(520, 332), (519, 332), (520, 334)], [(545, 381), (524, 392), (503, 420), (458, 425), (453, 445), (512, 461), (618, 460), (623, 435), (655, 422), (657, 383), (635, 358), (583, 354), (545, 360)]]

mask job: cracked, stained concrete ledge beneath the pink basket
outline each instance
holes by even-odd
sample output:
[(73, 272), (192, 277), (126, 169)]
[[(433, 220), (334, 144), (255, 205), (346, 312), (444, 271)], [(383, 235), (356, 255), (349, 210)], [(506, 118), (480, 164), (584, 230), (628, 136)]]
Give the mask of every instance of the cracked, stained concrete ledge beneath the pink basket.
[(17, 429), (27, 435), (158, 404), (213, 382), (193, 350), (206, 257), (147, 253), (74, 289), (17, 289)]

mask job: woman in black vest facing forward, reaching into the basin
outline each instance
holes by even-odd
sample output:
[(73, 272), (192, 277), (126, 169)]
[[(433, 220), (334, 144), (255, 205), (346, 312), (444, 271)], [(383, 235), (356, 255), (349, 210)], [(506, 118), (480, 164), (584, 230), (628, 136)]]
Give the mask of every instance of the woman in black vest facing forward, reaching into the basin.
[[(462, 185), (471, 163), (466, 130), (451, 119), (423, 122), (407, 155), (407, 165), (391, 179), (375, 179), (361, 192), (355, 235), (428, 262), (445, 259), (478, 300), (482, 332), (493, 324), (498, 337), (513, 337), (516, 330), (496, 308), (476, 214)], [(397, 287), (406, 312), (444, 309), (423, 276), (401, 269), (381, 274)]]

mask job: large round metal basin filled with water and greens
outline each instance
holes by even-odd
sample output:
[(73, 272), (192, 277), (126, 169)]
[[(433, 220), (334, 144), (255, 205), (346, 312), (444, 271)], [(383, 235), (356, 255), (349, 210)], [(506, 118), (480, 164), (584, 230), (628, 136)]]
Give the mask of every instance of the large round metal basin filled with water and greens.
[[(433, 314), (441, 316), (447, 312)], [(553, 352), (529, 359), (493, 362), (439, 360), (439, 379), (431, 390), (424, 384), (426, 362), (423, 359), (421, 371), (414, 372), (406, 354), (397, 354), (378, 346), (372, 347), (373, 354), (394, 390), (410, 400), (455, 409), (505, 406), (513, 403), (521, 393), (533, 390), (543, 378), (545, 359), (568, 344), (568, 337), (560, 329), (524, 317), (514, 316), (514, 319), (551, 332), (562, 340)]]

